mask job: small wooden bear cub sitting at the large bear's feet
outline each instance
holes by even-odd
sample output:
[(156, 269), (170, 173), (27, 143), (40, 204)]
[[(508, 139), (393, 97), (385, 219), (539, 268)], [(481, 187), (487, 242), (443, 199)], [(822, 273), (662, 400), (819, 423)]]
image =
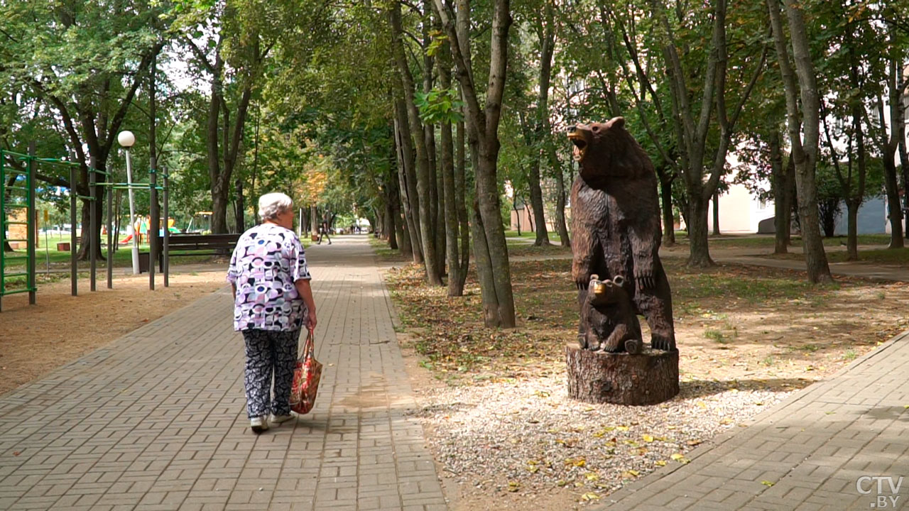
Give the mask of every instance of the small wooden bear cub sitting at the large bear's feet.
[(581, 310), (588, 325), (581, 347), (610, 353), (641, 353), (641, 324), (634, 315), (631, 297), (624, 290), (624, 284), (623, 276), (614, 276), (612, 280), (591, 276)]

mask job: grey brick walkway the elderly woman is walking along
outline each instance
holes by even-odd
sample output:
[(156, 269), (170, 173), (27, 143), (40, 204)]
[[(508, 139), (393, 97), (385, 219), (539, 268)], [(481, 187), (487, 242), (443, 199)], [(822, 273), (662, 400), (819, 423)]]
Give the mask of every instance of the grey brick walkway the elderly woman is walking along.
[(444, 510), (372, 252), (333, 241), (312, 413), (251, 433), (225, 288), (0, 396), (0, 509)]

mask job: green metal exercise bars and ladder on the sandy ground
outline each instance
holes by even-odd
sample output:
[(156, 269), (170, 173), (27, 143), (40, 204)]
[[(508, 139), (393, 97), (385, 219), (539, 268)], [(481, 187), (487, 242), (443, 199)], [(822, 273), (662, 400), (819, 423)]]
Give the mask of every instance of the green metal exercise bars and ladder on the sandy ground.
[[(5, 165), (6, 158), (12, 159), (16, 163), (22, 163), (25, 165), (25, 170), (19, 169), (15, 166), (10, 166), (9, 169)], [(3, 299), (3, 296), (13, 295), (17, 293), (28, 293), (29, 299), (28, 302), (30, 305), (35, 305), (36, 303), (36, 291), (37, 286), (35, 285), (35, 244), (36, 244), (36, 222), (37, 222), (37, 210), (35, 209), (35, 165), (45, 164), (45, 165), (55, 165), (68, 168), (69, 170), (69, 179), (70, 179), (70, 225), (73, 226), (70, 235), (70, 247), (71, 247), (71, 257), (70, 257), (70, 281), (72, 287), (72, 295), (77, 296), (77, 265), (76, 265), (76, 250), (75, 247), (78, 245), (78, 239), (76, 236), (75, 225), (76, 222), (76, 205), (78, 199), (83, 199), (88, 201), (89, 204), (93, 205), (90, 208), (90, 228), (88, 235), (88, 245), (89, 245), (89, 254), (90, 254), (90, 266), (89, 266), (89, 282), (90, 289), (92, 291), (96, 290), (96, 269), (97, 269), (97, 253), (100, 252), (101, 240), (99, 233), (99, 225), (97, 218), (97, 210), (95, 208), (95, 203), (98, 200), (98, 190), (99, 186), (106, 186), (109, 190), (139, 190), (139, 191), (148, 191), (151, 195), (151, 218), (149, 225), (161, 225), (158, 221), (160, 217), (158, 212), (158, 192), (163, 193), (162, 202), (163, 202), (163, 215), (168, 219), (167, 227), (165, 229), (160, 229), (163, 231), (163, 244), (158, 245), (159, 229), (149, 229), (149, 265), (148, 265), (148, 276), (149, 283), (148, 288), (150, 290), (155, 289), (155, 265), (151, 262), (155, 260), (155, 255), (161, 254), (163, 261), (162, 273), (164, 274), (164, 284), (165, 287), (170, 286), (169, 282), (169, 263), (170, 263), (170, 254), (169, 254), (169, 239), (170, 233), (173, 227), (173, 221), (168, 217), (168, 175), (165, 172), (165, 169), (162, 169), (160, 174), (163, 177), (163, 185), (157, 185), (157, 175), (159, 174), (156, 169), (155, 159), (152, 159), (152, 165), (149, 169), (149, 179), (148, 182), (132, 182), (130, 179), (127, 183), (115, 183), (110, 177), (111, 174), (98, 170), (95, 165), (94, 157), (90, 158), (88, 165), (88, 188), (90, 195), (78, 195), (75, 190), (75, 183), (77, 183), (76, 172), (81, 166), (80, 163), (75, 162), (75, 157), (71, 158), (70, 161), (57, 158), (39, 158), (35, 155), (35, 145), (34, 143), (29, 145), (28, 154), (15, 153), (12, 151), (6, 151), (5, 149), (0, 149), (0, 300)], [(98, 176), (103, 177), (103, 181), (98, 181)], [(11, 180), (11, 184), (7, 185), (7, 181)], [(24, 181), (24, 182), (22, 182)], [(7, 221), (7, 209), (20, 208), (25, 209), (25, 221)], [(113, 194), (107, 194), (106, 201), (107, 209), (107, 225), (106, 225), (106, 234), (107, 234), (107, 288), (113, 288), (113, 256), (114, 256), (114, 240), (113, 240)], [(25, 225), (27, 235), (25, 239), (7, 239), (6, 236), (6, 227), (8, 225)], [(26, 254), (25, 256), (16, 256), (16, 255), (6, 255), (5, 254), (5, 242), (15, 242), (26, 244)], [(7, 263), (10, 260), (15, 259), (25, 259), (25, 271), (15, 271), (13, 273), (7, 273)], [(9, 278), (22, 277), (25, 276), (26, 284), (24, 288), (18, 289), (9, 289), (6, 286), (6, 281)], [(2, 311), (2, 302), (0, 302), (0, 311)]]

